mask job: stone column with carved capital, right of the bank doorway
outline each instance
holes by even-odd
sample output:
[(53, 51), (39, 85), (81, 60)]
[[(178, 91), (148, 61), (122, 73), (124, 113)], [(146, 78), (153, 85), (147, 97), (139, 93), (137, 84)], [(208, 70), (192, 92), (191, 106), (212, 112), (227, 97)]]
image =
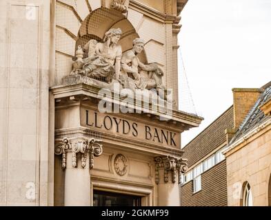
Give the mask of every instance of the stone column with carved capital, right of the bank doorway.
[[(155, 182), (158, 185), (158, 206), (180, 206), (181, 173), (187, 169), (186, 159), (171, 156), (155, 157)], [(162, 174), (163, 173), (163, 174)], [(163, 180), (160, 177), (163, 175)]]

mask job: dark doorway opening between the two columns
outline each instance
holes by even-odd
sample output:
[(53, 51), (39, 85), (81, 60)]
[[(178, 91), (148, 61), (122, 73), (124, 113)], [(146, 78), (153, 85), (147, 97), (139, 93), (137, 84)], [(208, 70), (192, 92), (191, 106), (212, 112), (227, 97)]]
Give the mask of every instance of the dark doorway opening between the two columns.
[(141, 206), (141, 197), (94, 190), (93, 206)]

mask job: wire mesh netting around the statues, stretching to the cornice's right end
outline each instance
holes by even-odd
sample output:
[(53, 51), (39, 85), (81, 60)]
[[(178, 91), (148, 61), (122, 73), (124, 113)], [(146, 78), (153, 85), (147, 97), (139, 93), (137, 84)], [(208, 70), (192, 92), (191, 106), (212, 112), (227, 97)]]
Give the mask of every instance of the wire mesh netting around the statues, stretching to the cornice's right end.
[[(181, 63), (181, 54), (177, 52), (177, 34), (172, 32), (172, 24), (163, 23), (144, 13), (132, 8), (121, 11), (119, 8), (107, 8), (98, 0), (59, 0), (56, 7), (56, 85), (61, 85), (63, 78), (72, 73), (74, 61), (78, 56), (89, 58), (91, 45), (104, 43), (106, 33), (112, 29), (120, 29), (122, 53), (132, 50), (134, 39), (141, 38), (144, 41), (143, 52), (137, 54), (143, 64), (155, 64), (162, 69), (161, 84), (170, 91), (175, 107), (177, 108), (178, 91), (181, 94), (181, 110), (197, 114)], [(120, 2), (124, 1), (108, 1)], [(118, 10), (116, 10), (118, 9)], [(79, 51), (79, 46), (83, 51)], [(178, 56), (179, 55), (179, 56)], [(179, 63), (179, 65), (178, 65)], [(140, 69), (140, 68), (139, 68)], [(179, 73), (179, 74), (178, 74)], [(142, 72), (143, 78), (145, 73)], [(133, 78), (132, 74), (128, 74)], [(93, 75), (94, 80), (103, 83), (110, 79)], [(147, 76), (148, 78), (148, 76)], [(179, 80), (178, 85), (178, 78)], [(155, 85), (156, 82), (154, 82)]]

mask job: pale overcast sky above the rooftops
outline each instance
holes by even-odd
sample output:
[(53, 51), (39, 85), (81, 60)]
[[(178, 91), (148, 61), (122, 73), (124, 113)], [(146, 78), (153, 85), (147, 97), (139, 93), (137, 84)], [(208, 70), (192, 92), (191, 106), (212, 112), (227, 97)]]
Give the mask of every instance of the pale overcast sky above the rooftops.
[(185, 146), (232, 105), (232, 88), (271, 80), (271, 0), (189, 0), (181, 17), (183, 64), (197, 113), (205, 118), (183, 133)]

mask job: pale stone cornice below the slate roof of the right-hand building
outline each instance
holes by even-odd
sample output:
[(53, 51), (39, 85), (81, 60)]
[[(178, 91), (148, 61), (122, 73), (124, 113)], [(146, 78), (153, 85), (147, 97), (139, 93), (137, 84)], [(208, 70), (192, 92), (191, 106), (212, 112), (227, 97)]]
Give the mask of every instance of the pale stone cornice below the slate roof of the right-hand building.
[(223, 151), (223, 154), (225, 155), (225, 157), (232, 155), (232, 153), (239, 151), (239, 149), (243, 148), (243, 146), (249, 144), (257, 137), (259, 137), (266, 131), (269, 131), (270, 129), (271, 129), (271, 118), (257, 126), (249, 133), (243, 135), (237, 141), (233, 142), (230, 146), (228, 146), (228, 148), (225, 149), (225, 151)]

